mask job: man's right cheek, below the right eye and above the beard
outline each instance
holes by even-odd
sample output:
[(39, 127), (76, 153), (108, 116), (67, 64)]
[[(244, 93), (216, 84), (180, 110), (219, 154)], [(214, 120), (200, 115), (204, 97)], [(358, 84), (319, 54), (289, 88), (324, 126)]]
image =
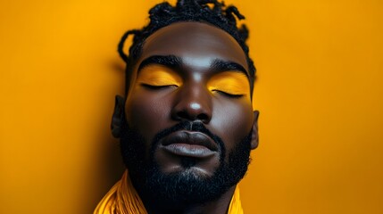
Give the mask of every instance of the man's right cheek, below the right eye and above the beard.
[(214, 104), (212, 131), (221, 136), (230, 151), (251, 131), (254, 113), (251, 103), (220, 102)]

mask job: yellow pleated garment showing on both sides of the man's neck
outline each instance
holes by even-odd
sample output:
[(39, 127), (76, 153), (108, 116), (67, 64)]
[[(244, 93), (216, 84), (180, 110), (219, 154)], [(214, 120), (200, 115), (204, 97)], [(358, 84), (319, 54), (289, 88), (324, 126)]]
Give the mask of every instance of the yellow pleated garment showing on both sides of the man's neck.
[[(103, 200), (98, 203), (94, 214), (146, 214), (144, 203), (138, 196), (136, 189), (131, 184), (128, 171), (125, 170), (121, 180), (113, 185), (106, 193)], [(231, 198), (228, 214), (243, 214), (239, 199), (239, 188)]]

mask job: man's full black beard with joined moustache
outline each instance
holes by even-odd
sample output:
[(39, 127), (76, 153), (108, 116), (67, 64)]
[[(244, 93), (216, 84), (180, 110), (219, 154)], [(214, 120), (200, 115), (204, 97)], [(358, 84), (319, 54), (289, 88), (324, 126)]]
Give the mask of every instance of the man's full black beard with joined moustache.
[[(183, 170), (167, 174), (163, 173), (155, 162), (154, 152), (162, 137), (179, 130), (202, 132), (218, 145), (220, 164), (211, 177), (203, 176), (193, 169), (197, 161), (194, 158), (182, 157), (180, 162)], [(154, 136), (150, 148), (146, 148), (145, 142), (145, 137), (136, 130), (124, 128), (121, 136), (121, 154), (129, 169), (132, 184), (143, 201), (155, 202), (161, 206), (213, 202), (231, 186), (237, 185), (245, 176), (250, 163), (251, 131), (228, 154), (221, 138), (212, 134), (201, 122), (184, 121), (162, 130)]]

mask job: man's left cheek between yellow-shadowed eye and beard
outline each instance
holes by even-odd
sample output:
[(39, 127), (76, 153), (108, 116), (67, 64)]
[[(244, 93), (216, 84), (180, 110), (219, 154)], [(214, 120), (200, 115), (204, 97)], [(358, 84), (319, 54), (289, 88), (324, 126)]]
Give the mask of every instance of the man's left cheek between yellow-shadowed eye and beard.
[(130, 128), (136, 129), (148, 140), (167, 128), (171, 102), (161, 95), (146, 93), (145, 90), (134, 90), (126, 102), (126, 119)]

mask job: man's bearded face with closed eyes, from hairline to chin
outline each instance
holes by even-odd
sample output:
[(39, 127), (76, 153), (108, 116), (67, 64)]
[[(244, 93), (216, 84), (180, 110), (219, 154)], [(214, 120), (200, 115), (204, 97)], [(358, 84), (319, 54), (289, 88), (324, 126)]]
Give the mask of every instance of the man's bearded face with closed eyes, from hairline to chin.
[(180, 22), (148, 37), (132, 70), (121, 138), (133, 183), (153, 175), (204, 182), (221, 173), (226, 190), (235, 185), (255, 147), (248, 77), (245, 53), (221, 29)]

